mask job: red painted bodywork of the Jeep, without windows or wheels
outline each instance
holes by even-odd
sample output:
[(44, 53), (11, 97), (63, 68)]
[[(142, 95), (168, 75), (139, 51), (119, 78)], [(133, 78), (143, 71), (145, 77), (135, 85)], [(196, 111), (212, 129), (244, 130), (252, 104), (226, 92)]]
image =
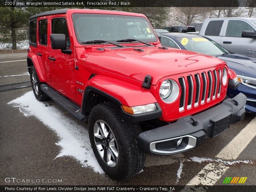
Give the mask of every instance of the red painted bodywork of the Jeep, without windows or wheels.
[[(64, 54), (60, 50), (53, 50), (51, 44), (41, 47), (43, 56), (36, 55), (38, 49), (30, 46), (28, 52), (34, 65), (40, 81), (46, 82), (53, 89), (60, 92), (77, 105), (82, 105), (83, 90), (87, 86), (93, 86), (106, 92), (118, 99), (126, 106), (139, 106), (158, 102), (163, 111), (161, 120), (172, 122), (180, 117), (193, 115), (206, 110), (221, 102), (227, 91), (227, 85), (221, 87), (220, 97), (199, 104), (197, 107), (185, 109), (179, 112), (180, 94), (177, 100), (172, 103), (165, 103), (159, 96), (161, 83), (169, 78), (178, 82), (179, 77), (186, 78), (187, 75), (207, 72), (207, 70), (218, 70), (227, 67), (226, 63), (217, 58), (189, 52), (185, 50), (168, 48), (159, 49), (161, 46), (159, 40), (151, 42), (153, 46), (146, 46), (142, 43), (120, 43), (127, 48), (117, 48), (114, 45), (92, 44), (82, 45), (76, 40), (76, 35), (72, 22), (73, 13), (100, 13), (100, 14), (118, 14), (145, 17), (143, 14), (130, 12), (116, 12), (104, 10), (70, 9), (66, 14), (49, 15), (37, 18), (37, 21), (46, 18), (48, 20), (48, 42), (50, 42), (51, 21), (53, 18), (64, 17), (68, 24), (68, 33), (70, 37), (72, 54)], [(145, 17), (146, 18), (146, 17)], [(38, 33), (38, 28), (37, 28)], [(37, 46), (38, 46), (37, 39)], [(135, 51), (134, 45), (140, 45), (143, 52)], [(145, 47), (144, 47), (145, 45)], [(40, 46), (39, 46), (40, 47)], [(104, 48), (99, 50), (97, 48)], [(56, 61), (48, 60), (48, 57), (55, 57)], [(75, 66), (78, 70), (74, 69)], [(89, 77), (95, 74), (89, 80)], [(142, 88), (142, 82), (146, 75), (152, 77), (151, 88)], [(202, 82), (200, 76), (200, 82)], [(209, 79), (206, 79), (209, 82)], [(195, 79), (193, 83), (196, 84)], [(214, 83), (214, 81), (213, 81)], [(217, 86), (218, 90), (219, 85)], [(196, 85), (195, 85), (196, 88)], [(181, 88), (180, 88), (181, 89)], [(186, 104), (188, 103), (188, 83), (186, 82)], [(213, 88), (212, 92), (213, 92)], [(80, 91), (82, 90), (82, 92)], [(181, 90), (180, 90), (181, 91)], [(206, 93), (208, 87), (206, 89)], [(192, 95), (195, 99), (195, 92)], [(212, 93), (213, 94), (213, 93)], [(202, 89), (200, 90), (202, 95)], [(201, 97), (200, 99), (201, 100)]]

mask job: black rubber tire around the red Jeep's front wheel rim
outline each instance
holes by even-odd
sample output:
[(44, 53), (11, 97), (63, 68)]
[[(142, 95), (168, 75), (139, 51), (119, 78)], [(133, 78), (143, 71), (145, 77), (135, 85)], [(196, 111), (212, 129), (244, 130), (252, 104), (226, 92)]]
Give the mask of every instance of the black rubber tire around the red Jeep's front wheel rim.
[[(114, 163), (112, 164), (112, 167), (103, 160), (104, 155), (103, 157), (100, 156), (98, 150), (100, 147), (96, 147), (94, 124), (96, 123), (95, 126), (97, 127), (98, 121), (106, 123), (104, 124), (105, 127), (107, 127), (109, 132), (111, 131), (111, 133), (113, 133), (113, 138), (116, 140), (115, 147), (117, 146), (116, 149), (118, 150), (119, 158), (118, 160), (115, 159), (116, 164), (115, 161), (113, 161)], [(94, 155), (100, 164), (100, 167), (109, 177), (114, 180), (127, 180), (142, 170), (145, 165), (145, 154), (138, 148), (138, 135), (141, 132), (140, 126), (138, 124), (128, 123), (115, 104), (101, 103), (93, 107), (89, 115), (88, 129)], [(99, 128), (96, 129), (99, 130)], [(111, 135), (111, 133), (109, 134)], [(96, 139), (98, 141), (99, 138)], [(104, 140), (104, 138), (102, 140)], [(103, 142), (105, 145), (107, 145), (106, 140)], [(97, 146), (104, 148), (104, 153), (106, 150), (104, 145), (98, 143)], [(109, 148), (110, 147), (107, 147), (107, 149)], [(111, 155), (111, 158), (112, 157), (113, 156)]]

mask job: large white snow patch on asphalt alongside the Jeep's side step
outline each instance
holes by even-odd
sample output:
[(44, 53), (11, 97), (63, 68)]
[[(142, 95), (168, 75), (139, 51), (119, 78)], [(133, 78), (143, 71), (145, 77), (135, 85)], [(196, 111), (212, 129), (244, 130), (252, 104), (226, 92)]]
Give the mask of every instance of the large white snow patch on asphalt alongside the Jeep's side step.
[(75, 157), (82, 166), (91, 166), (95, 172), (104, 173), (100, 168), (89, 140), (88, 131), (72, 118), (63, 116), (63, 111), (50, 106), (47, 102), (36, 100), (32, 91), (10, 101), (8, 104), (19, 108), (24, 116), (34, 116), (55, 131), (60, 140), (55, 143), (61, 147), (61, 156)]

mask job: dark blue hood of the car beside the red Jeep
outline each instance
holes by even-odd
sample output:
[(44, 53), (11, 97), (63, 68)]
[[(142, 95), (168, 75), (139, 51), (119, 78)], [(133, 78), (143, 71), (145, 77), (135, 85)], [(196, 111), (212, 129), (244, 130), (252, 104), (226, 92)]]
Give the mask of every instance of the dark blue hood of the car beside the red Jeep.
[(237, 75), (256, 78), (256, 58), (236, 53), (222, 55), (218, 58), (224, 60), (228, 68), (233, 69)]

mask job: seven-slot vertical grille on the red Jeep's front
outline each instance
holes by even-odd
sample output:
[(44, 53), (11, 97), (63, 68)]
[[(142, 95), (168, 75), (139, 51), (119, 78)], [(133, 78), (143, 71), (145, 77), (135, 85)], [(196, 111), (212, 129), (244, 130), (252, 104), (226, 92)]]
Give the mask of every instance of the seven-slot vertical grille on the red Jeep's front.
[(220, 97), (221, 69), (179, 77), (179, 84), (181, 89), (179, 111), (197, 107)]

